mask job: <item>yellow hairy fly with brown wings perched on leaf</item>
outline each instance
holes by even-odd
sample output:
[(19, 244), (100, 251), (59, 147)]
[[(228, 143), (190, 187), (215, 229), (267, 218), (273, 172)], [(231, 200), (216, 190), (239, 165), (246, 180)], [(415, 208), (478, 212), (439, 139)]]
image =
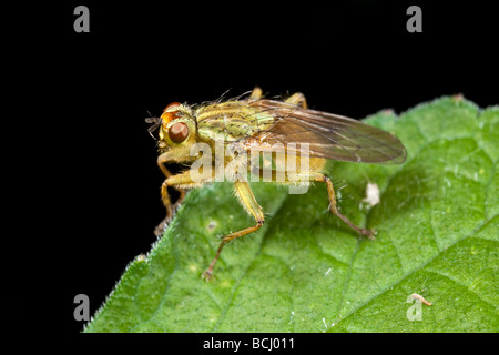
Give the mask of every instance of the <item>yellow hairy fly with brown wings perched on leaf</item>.
[[(307, 168), (289, 171), (286, 164), (267, 164), (271, 182), (296, 184), (301, 182), (322, 182), (327, 186), (330, 212), (350, 226), (358, 234), (374, 239), (374, 230), (364, 229), (352, 223), (336, 206), (336, 195), (333, 182), (324, 173), (327, 160), (349, 161), (374, 164), (400, 164), (406, 160), (406, 149), (393, 134), (370, 126), (359, 121), (310, 110), (305, 97), (297, 92), (285, 101), (262, 98), (262, 90), (255, 88), (246, 99), (216, 101), (200, 105), (187, 105), (174, 102), (169, 104), (160, 118), (146, 119), (152, 123), (149, 131), (159, 129), (157, 165), (165, 175), (161, 187), (161, 196), (166, 209), (166, 217), (159, 232), (173, 216), (176, 206), (189, 189), (200, 187), (216, 180), (221, 168), (230, 170), (234, 192), (245, 211), (255, 220), (255, 224), (225, 235), (216, 254), (203, 277), (210, 280), (216, 261), (225, 244), (240, 236), (253, 233), (265, 223), (264, 213), (253, 195), (247, 176), (259, 175), (265, 169), (259, 165), (255, 170), (247, 155), (254, 151), (265, 152), (272, 146), (284, 146), (284, 158), (296, 156), (301, 160), (297, 146), (307, 146)], [(208, 164), (201, 169), (201, 174), (192, 173), (200, 159), (196, 148), (203, 146), (216, 150), (216, 145), (236, 151), (222, 160), (216, 154), (204, 154)], [(303, 160), (303, 158), (302, 158)], [(167, 163), (181, 163), (190, 169), (172, 174), (165, 166)], [(197, 164), (198, 165), (198, 164)], [(196, 166), (197, 166), (196, 165)], [(281, 176), (281, 180), (277, 179)], [(172, 205), (167, 187), (179, 190), (180, 197)], [(157, 231), (157, 230), (156, 230)]]

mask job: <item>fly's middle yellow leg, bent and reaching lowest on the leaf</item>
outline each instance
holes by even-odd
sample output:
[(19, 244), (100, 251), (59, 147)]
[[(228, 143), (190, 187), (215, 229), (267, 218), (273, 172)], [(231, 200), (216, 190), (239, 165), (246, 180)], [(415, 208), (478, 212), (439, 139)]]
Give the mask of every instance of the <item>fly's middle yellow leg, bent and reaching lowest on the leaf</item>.
[(265, 223), (262, 207), (256, 202), (252, 189), (249, 187), (249, 184), (247, 182), (236, 181), (234, 183), (234, 191), (244, 210), (246, 210), (255, 219), (256, 224), (247, 229), (227, 234), (222, 239), (218, 250), (216, 251), (215, 257), (210, 264), (210, 267), (202, 275), (202, 277), (206, 278), (206, 281), (210, 281), (212, 278), (213, 268), (215, 267), (216, 261), (218, 260), (220, 254), (222, 253), (222, 250), (225, 246), (225, 244), (227, 244), (232, 240), (235, 240), (236, 237), (257, 231)]

